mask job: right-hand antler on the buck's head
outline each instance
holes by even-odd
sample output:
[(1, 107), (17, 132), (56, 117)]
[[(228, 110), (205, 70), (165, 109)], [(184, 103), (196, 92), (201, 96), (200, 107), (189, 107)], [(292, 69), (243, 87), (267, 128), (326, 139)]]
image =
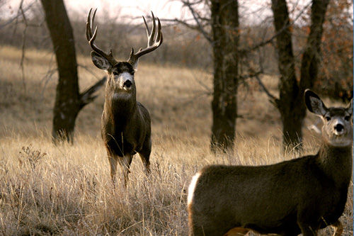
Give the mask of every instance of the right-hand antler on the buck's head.
[(156, 50), (156, 48), (159, 47), (163, 41), (162, 33), (161, 33), (161, 23), (160, 23), (159, 18), (157, 18), (158, 25), (157, 25), (156, 38), (155, 38), (156, 23), (155, 23), (154, 13), (152, 13), (152, 31), (151, 32), (149, 30), (149, 27), (147, 26), (147, 21), (145, 20), (144, 16), (142, 18), (144, 19), (145, 28), (147, 29), (147, 47), (144, 48), (143, 50), (140, 48), (137, 53), (134, 53), (134, 48), (132, 48), (132, 52), (130, 52), (130, 57), (128, 60), (128, 62), (130, 64), (135, 64), (137, 62), (137, 60), (139, 59), (139, 57)]

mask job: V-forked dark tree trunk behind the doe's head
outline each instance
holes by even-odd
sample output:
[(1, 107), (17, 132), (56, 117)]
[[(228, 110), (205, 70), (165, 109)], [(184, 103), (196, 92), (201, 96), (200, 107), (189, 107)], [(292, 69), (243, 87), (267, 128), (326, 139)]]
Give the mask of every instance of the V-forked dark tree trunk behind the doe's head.
[(272, 0), (276, 38), (278, 67), (280, 72), (279, 93), (276, 101), (282, 119), (283, 147), (302, 147), (302, 123), (306, 116), (304, 90), (311, 89), (318, 72), (321, 35), (324, 16), (329, 0), (312, 1), (312, 23), (307, 45), (302, 56), (301, 79), (297, 82), (295, 57), (292, 52), (292, 34), (289, 27), (289, 13), (285, 0)]

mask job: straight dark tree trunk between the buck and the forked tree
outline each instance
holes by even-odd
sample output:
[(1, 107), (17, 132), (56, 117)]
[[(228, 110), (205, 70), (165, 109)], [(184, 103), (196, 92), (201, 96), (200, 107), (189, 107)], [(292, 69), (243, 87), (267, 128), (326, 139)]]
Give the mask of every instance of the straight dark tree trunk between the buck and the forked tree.
[(237, 117), (239, 12), (236, 0), (211, 1), (214, 59), (211, 150), (234, 145)]

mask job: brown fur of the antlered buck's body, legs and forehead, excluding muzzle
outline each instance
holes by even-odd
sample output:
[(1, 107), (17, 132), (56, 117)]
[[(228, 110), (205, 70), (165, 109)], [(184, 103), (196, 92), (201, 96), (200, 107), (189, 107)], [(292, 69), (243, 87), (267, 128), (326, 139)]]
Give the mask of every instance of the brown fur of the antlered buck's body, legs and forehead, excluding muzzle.
[(149, 172), (149, 157), (152, 147), (151, 119), (149, 111), (137, 102), (137, 92), (133, 80), (129, 92), (116, 86), (113, 72), (127, 72), (134, 77), (134, 69), (128, 62), (119, 62), (109, 72), (105, 86), (105, 104), (101, 120), (101, 135), (110, 161), (111, 176), (115, 178), (117, 162), (123, 169), (123, 178), (127, 184), (132, 155), (139, 153)]

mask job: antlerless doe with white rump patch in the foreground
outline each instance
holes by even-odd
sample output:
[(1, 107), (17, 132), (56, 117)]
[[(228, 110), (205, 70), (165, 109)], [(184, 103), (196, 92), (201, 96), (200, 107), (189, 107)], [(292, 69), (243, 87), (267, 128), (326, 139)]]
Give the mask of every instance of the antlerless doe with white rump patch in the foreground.
[(213, 165), (188, 188), (190, 235), (316, 235), (327, 225), (341, 235), (353, 166), (353, 99), (326, 108), (305, 91), (312, 113), (324, 120), (315, 155), (259, 167)]

